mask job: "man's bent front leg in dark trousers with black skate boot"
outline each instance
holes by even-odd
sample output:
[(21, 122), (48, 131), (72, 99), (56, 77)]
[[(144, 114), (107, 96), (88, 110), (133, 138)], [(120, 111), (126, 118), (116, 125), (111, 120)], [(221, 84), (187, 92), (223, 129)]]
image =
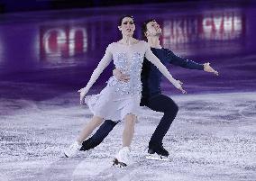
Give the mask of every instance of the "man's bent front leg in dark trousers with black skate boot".
[(168, 156), (168, 151), (162, 147), (162, 140), (167, 131), (169, 131), (170, 124), (173, 122), (178, 113), (178, 105), (175, 104), (175, 102), (169, 98), (169, 96), (155, 95), (149, 99), (147, 106), (153, 111), (164, 113), (159, 125), (151, 136), (149, 151), (151, 148), (155, 150), (159, 149), (155, 152), (160, 155)]

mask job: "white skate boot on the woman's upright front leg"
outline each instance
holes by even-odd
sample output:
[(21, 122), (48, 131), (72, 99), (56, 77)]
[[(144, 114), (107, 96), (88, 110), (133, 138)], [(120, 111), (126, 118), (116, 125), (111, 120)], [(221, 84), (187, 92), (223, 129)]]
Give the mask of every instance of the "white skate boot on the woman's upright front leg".
[(113, 166), (126, 167), (131, 162), (130, 160), (130, 148), (123, 147), (118, 151), (113, 160)]

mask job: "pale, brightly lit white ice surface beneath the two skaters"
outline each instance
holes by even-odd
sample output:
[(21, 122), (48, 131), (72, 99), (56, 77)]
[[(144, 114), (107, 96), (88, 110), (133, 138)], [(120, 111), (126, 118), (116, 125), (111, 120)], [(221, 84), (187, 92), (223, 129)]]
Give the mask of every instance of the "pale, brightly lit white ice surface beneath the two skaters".
[(132, 144), (134, 161), (123, 169), (111, 166), (122, 144), (123, 123), (96, 149), (61, 158), (92, 116), (76, 103), (77, 94), (41, 102), (2, 99), (0, 180), (256, 179), (255, 92), (172, 97), (179, 112), (164, 139), (170, 160), (144, 158), (161, 113), (142, 108)]

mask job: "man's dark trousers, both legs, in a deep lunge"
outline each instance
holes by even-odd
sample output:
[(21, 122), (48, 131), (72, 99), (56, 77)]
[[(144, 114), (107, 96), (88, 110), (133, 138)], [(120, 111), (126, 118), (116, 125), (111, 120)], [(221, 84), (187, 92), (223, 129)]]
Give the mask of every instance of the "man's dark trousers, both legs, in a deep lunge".
[[(169, 131), (170, 124), (175, 119), (178, 113), (178, 105), (166, 95), (153, 95), (147, 102), (144, 103), (153, 111), (164, 113), (160, 120), (159, 125), (151, 136), (149, 144), (162, 144), (162, 140)], [(99, 127), (96, 133), (89, 139), (83, 142), (83, 146), (80, 150), (93, 149), (99, 145), (110, 131), (113, 130), (114, 126), (118, 122), (113, 122), (111, 120), (105, 120), (105, 122)]]

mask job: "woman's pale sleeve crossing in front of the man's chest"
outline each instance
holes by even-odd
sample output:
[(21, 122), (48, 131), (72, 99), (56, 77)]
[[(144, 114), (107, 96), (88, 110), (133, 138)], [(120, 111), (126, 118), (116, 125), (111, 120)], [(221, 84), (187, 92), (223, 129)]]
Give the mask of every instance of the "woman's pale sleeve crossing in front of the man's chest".
[(168, 69), (160, 62), (160, 59), (158, 59), (151, 51), (151, 47), (150, 45), (148, 45), (148, 43), (146, 44), (146, 53), (145, 53), (145, 57), (146, 59), (148, 59), (149, 61), (151, 61), (152, 64), (154, 64), (159, 70), (160, 72), (169, 79), (169, 82), (171, 82), (173, 84), (173, 86), (175, 86), (176, 88), (180, 88), (180, 84), (178, 83), (178, 81), (176, 79), (174, 79), (170, 74)]

